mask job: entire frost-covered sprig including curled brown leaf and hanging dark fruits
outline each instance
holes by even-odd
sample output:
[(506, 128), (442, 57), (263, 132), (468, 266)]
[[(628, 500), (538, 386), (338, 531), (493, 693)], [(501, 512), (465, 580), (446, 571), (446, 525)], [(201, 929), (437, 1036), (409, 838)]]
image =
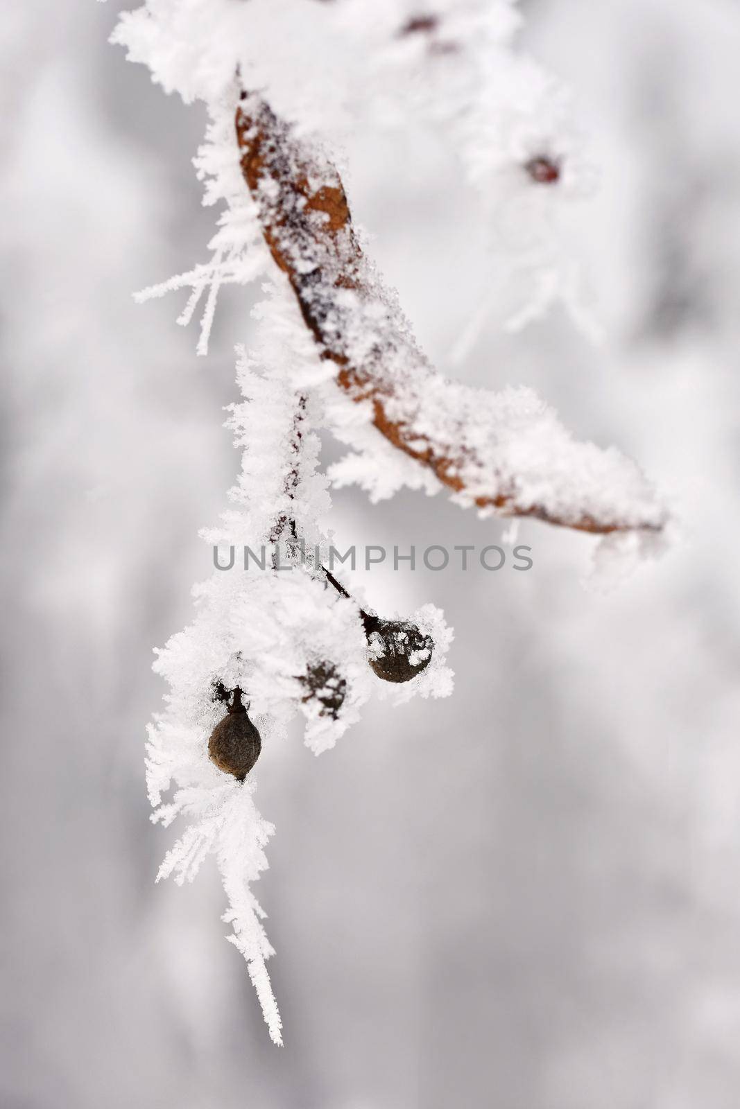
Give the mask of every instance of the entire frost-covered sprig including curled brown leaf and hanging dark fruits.
[[(497, 264), (507, 253), (496, 234), (501, 212), (507, 228), (524, 232), (510, 244), (509, 272), (526, 276), (530, 291), (509, 329), (558, 301), (582, 322), (574, 266), (549, 216), (587, 174), (567, 95), (516, 48), (518, 26), (510, 0), (435, 0), (428, 10), (415, 0), (144, 0), (113, 35), (165, 90), (206, 104), (195, 165), (204, 202), (222, 206), (210, 262), (139, 299), (190, 288), (179, 323), (203, 303), (197, 353), (205, 355), (220, 287), (267, 278), (229, 419), (241, 470), (231, 508), (203, 532), (231, 561), (216, 560), (195, 588), (193, 621), (156, 652), (169, 693), (150, 726), (146, 780), (152, 820), (187, 821), (158, 878), (191, 882), (206, 856), (215, 858), (229, 939), (276, 1044), (273, 949), (252, 891), (274, 831), (253, 801), (261, 752), (282, 742), (295, 718), (320, 754), (374, 692), (401, 703), (453, 688), (453, 635), (442, 612), (432, 604), (394, 619), (365, 611), (331, 560), (325, 569), (330, 479), (357, 481), (374, 498), (402, 485), (446, 487), (483, 512), (606, 535), (607, 561), (622, 548), (649, 548), (666, 521), (635, 464), (574, 441), (531, 390), (470, 389), (433, 368), (365, 255), (335, 169), (342, 135), (363, 120), (404, 130), (432, 122), (458, 161), (460, 184), (485, 197), (480, 233)], [(539, 215), (528, 206), (517, 216), (517, 200), (535, 201)], [(475, 342), (486, 296), (458, 350)], [(330, 472), (320, 467), (322, 428), (352, 450)], [(280, 554), (263, 559), (263, 572), (223, 572), (235, 549), (275, 545)]]

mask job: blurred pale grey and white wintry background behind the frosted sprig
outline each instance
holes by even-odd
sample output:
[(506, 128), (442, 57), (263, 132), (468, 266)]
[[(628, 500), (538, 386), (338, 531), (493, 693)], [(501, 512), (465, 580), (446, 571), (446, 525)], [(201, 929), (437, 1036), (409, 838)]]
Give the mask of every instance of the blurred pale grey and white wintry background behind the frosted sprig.
[[(207, 359), (174, 299), (206, 256), (204, 119), (107, 44), (114, 6), (3, 13), (4, 1035), (8, 1109), (736, 1109), (740, 1085), (740, 8), (529, 0), (600, 187), (569, 212), (604, 340), (507, 335), (479, 212), (433, 129), (363, 131), (351, 200), (433, 360), (527, 384), (640, 460), (680, 542), (617, 592), (594, 540), (534, 569), (374, 570), (455, 627), (455, 695), (374, 702), (316, 760), (265, 751), (257, 893), (286, 1046), (223, 942), (213, 868), (153, 885), (151, 648), (191, 615), (239, 456), (221, 427), (253, 294)], [(336, 448), (326, 445), (326, 458)], [(341, 543), (495, 543), (445, 498), (335, 497)]]

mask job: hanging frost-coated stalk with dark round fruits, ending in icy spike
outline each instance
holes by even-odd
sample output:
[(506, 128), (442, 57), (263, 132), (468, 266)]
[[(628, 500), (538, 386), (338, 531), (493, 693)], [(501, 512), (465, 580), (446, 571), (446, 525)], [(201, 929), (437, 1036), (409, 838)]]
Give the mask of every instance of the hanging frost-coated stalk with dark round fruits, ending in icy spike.
[[(290, 572), (268, 563), (255, 576), (214, 570), (197, 587), (195, 620), (158, 651), (155, 669), (170, 694), (150, 728), (146, 759), (152, 818), (165, 826), (178, 816), (190, 821), (158, 878), (192, 882), (215, 856), (229, 939), (246, 959), (276, 1044), (282, 1026), (266, 968), (273, 950), (250, 888), (266, 868), (273, 832), (252, 796), (262, 747), (278, 742), (300, 714), (306, 745), (326, 751), (357, 721), (373, 688), (398, 701), (452, 691), (452, 633), (438, 610), (383, 619), (323, 568), (327, 542), (318, 521), (331, 501), (318, 470), (321, 414), (293, 379), (304, 346), (314, 352), (288, 296), (286, 288), (271, 293), (260, 307), (262, 342), (251, 356), (242, 352), (242, 400), (229, 419), (242, 470), (230, 491), (233, 508), (204, 538), (232, 549), (280, 542), (281, 571)], [(173, 783), (172, 801), (163, 802)]]

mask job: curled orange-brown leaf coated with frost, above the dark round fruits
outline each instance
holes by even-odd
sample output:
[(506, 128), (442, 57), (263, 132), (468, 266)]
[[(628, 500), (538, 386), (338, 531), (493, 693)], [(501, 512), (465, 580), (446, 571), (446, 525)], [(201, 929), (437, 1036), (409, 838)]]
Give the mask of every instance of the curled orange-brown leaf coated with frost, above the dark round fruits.
[[(336, 381), (375, 428), (455, 498), (501, 516), (600, 535), (660, 532), (667, 512), (639, 467), (576, 442), (530, 390), (472, 389), (438, 374), (355, 234), (342, 180), (322, 151), (242, 92), (236, 140), (273, 260)], [(541, 180), (550, 166), (533, 166)]]

